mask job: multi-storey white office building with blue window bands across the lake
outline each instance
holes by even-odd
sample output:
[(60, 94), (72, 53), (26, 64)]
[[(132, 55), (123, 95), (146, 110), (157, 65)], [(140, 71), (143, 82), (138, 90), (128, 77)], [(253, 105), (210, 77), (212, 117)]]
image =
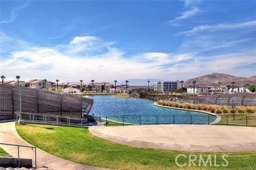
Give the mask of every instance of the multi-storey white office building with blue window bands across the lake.
[(177, 81), (159, 81), (154, 83), (154, 91), (165, 93), (177, 90)]

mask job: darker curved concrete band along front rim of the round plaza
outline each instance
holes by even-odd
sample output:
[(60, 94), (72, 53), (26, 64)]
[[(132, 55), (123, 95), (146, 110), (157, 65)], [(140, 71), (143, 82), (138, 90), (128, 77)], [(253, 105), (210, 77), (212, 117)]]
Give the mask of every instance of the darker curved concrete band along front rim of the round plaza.
[(105, 128), (109, 127), (89, 127), (89, 132), (92, 135), (95, 135), (96, 137), (99, 137), (101, 139), (105, 139), (107, 141), (111, 141), (113, 143), (118, 143), (121, 145), (128, 145), (130, 147), (159, 149), (167, 151), (183, 151), (188, 153), (239, 153), (256, 151), (256, 143), (232, 143), (228, 145), (188, 145), (179, 143), (157, 143), (117, 136), (113, 133), (109, 133), (109, 131), (107, 131)]

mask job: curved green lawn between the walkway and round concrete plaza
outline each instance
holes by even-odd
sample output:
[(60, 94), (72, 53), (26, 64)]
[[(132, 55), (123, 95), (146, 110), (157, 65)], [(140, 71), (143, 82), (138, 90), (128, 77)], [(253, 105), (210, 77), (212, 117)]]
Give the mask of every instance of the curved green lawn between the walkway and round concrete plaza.
[[(175, 157), (179, 154), (189, 157), (189, 153), (119, 145), (91, 135), (86, 128), (38, 124), (16, 125), (16, 128), (32, 145), (85, 165), (112, 169), (256, 169), (256, 153), (227, 153), (228, 167), (177, 167)], [(223, 163), (221, 155), (217, 154), (217, 163)], [(203, 153), (205, 160), (207, 156)], [(179, 162), (187, 163), (187, 159)]]

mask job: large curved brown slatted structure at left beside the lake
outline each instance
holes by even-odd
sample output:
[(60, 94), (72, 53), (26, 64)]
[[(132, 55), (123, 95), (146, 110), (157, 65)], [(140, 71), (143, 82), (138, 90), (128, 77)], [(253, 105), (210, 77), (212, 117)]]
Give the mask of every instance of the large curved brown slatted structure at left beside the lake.
[[(0, 85), (0, 120), (15, 119), (20, 111), (20, 93), (18, 86)], [(89, 113), (93, 99), (21, 87), (22, 113), (59, 115), (61, 117), (81, 118)]]

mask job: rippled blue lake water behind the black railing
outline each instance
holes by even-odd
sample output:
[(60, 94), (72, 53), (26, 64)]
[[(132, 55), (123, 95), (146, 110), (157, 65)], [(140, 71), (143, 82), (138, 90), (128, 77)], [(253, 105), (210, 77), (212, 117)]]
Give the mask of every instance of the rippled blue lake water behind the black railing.
[[(132, 98), (117, 98), (109, 95), (93, 96), (90, 115), (127, 123), (211, 123), (215, 117), (194, 111), (181, 111), (156, 107), (153, 101)], [(122, 117), (120, 115), (125, 115)]]

